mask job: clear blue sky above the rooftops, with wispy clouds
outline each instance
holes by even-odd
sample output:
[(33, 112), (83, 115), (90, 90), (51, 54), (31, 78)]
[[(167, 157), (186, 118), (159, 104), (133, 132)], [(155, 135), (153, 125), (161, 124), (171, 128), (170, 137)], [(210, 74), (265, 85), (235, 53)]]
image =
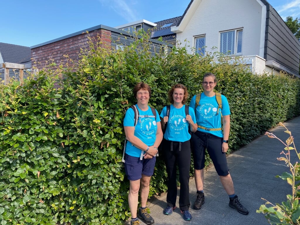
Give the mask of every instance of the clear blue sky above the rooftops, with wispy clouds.
[[(283, 20), (286, 16), (300, 18), (300, 0), (267, 1)], [(189, 2), (190, 0), (3, 0), (0, 4), (0, 42), (30, 47), (100, 24), (114, 27), (140, 19), (157, 22), (181, 16)]]

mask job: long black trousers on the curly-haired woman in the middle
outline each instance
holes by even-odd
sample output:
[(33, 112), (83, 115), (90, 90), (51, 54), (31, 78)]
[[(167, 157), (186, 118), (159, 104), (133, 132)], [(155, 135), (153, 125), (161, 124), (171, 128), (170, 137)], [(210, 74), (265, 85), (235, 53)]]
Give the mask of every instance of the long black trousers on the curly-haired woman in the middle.
[(179, 182), (180, 182), (180, 195), (179, 195), (179, 208), (186, 211), (190, 207), (190, 141), (176, 142), (163, 140), (164, 160), (167, 168), (168, 175), (168, 193), (167, 203), (168, 206), (174, 207), (177, 197), (177, 169), (179, 169)]

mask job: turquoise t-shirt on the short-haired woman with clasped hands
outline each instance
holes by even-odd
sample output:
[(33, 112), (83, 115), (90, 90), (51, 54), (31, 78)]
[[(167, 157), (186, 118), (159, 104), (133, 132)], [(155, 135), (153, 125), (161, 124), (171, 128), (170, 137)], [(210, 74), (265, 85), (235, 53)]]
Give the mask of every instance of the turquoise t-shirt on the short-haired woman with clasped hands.
[[(149, 115), (153, 116), (151, 108), (148, 106), (147, 111), (142, 111), (139, 109), (136, 104), (137, 110), (140, 115)], [(137, 125), (134, 129), (134, 136), (138, 137), (143, 143), (148, 146), (152, 146), (156, 140), (156, 131), (157, 131), (157, 123), (161, 122), (161, 119), (158, 116), (158, 112), (156, 111), (156, 121), (155, 117), (140, 117), (138, 119)], [(154, 115), (155, 116), (155, 115)], [(125, 113), (125, 118), (123, 122), (124, 127), (134, 127), (134, 110), (129, 108)], [(146, 150), (146, 149), (145, 149)], [(125, 153), (133, 156), (139, 157), (141, 155), (141, 149), (133, 146), (130, 141), (126, 142)]]

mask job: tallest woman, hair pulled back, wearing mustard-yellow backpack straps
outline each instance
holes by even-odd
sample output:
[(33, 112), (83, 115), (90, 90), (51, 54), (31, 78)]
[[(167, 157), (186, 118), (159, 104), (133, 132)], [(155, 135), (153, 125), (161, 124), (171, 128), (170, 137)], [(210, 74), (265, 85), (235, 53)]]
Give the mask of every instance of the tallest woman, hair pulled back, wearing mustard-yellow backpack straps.
[[(200, 209), (205, 203), (203, 183), (205, 150), (207, 150), (221, 183), (229, 196), (229, 206), (235, 208), (239, 213), (247, 215), (248, 210), (241, 205), (229, 174), (226, 152), (228, 150), (228, 138), (230, 130), (230, 109), (227, 98), (221, 95), (221, 104), (217, 101), (214, 87), (217, 84), (213, 73), (205, 73), (202, 81), (204, 92), (201, 93), (199, 103), (196, 103), (196, 95), (193, 96), (190, 107), (195, 110), (198, 129), (192, 134), (194, 176), (197, 188), (194, 209)], [(223, 124), (223, 131), (222, 131)]]

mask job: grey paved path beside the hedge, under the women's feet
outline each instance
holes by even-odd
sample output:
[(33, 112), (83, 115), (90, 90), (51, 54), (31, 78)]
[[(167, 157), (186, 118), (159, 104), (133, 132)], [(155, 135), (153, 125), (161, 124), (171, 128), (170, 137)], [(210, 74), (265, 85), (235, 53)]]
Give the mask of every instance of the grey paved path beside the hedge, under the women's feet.
[[(295, 138), (295, 145), (300, 150), (300, 117), (284, 123)], [(269, 132), (278, 138), (288, 138), (285, 129), (278, 126)], [(213, 166), (204, 173), (204, 194), (205, 204), (200, 210), (194, 210), (193, 204), (196, 199), (196, 186), (193, 179), (190, 179), (190, 213), (192, 220), (185, 221), (182, 218), (180, 209), (176, 208), (171, 215), (164, 215), (164, 208), (167, 206), (166, 194), (158, 197), (149, 203), (151, 215), (155, 225), (267, 225), (268, 221), (262, 213), (256, 213), (259, 206), (267, 199), (271, 203), (286, 201), (286, 195), (292, 193), (292, 188), (286, 181), (276, 178), (289, 168), (277, 157), (283, 151), (283, 144), (279, 140), (269, 138), (265, 135), (256, 138), (247, 146), (233, 152), (227, 157), (229, 171), (235, 186), (235, 194), (238, 195), (241, 203), (249, 210), (248, 215), (242, 215), (235, 209), (228, 206), (229, 198), (220, 182), (219, 176)], [(291, 151), (291, 161), (298, 161), (295, 151)], [(179, 190), (176, 206), (179, 206)], [(140, 220), (141, 224), (144, 224)], [(130, 223), (129, 223), (130, 224)]]

